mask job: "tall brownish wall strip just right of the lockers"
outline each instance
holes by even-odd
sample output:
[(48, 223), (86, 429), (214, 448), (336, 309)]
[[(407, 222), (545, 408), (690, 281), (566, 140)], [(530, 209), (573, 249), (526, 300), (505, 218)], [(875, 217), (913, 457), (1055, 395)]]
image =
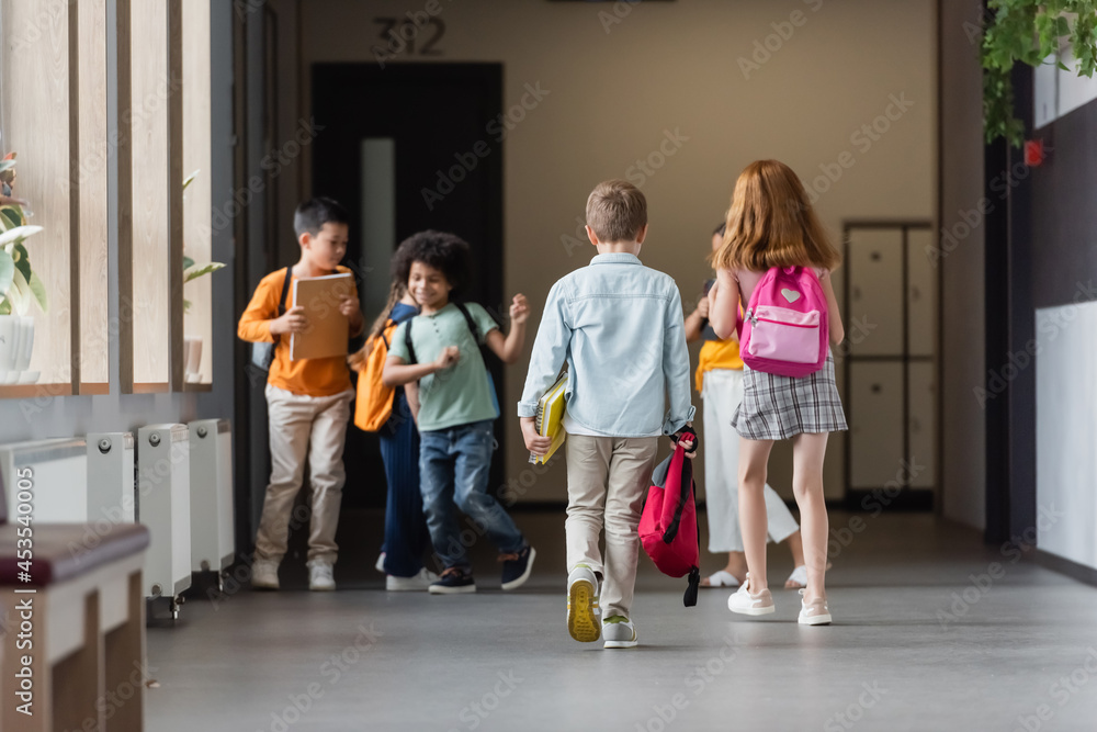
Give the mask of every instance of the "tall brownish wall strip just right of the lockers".
[[(941, 361), (945, 516), (986, 527), (986, 414), (973, 390), (985, 383), (982, 221), (963, 236), (964, 212), (983, 196), (982, 72), (969, 32), (976, 3), (941, 2), (941, 228), (958, 235), (942, 247)], [(971, 216), (971, 213), (968, 213)], [(977, 217), (977, 216), (976, 216)]]

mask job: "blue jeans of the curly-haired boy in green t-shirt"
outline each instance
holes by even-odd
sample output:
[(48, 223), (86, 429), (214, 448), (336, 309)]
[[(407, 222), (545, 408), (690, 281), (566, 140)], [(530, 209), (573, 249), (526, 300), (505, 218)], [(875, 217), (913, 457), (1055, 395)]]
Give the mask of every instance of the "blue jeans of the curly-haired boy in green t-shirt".
[[(468, 570), (467, 548), (487, 534), (500, 553), (521, 551), (522, 532), (487, 492), (495, 451), (493, 420), (420, 432), (419, 475), (427, 528), (442, 566)], [(472, 527), (461, 530), (453, 505)]]

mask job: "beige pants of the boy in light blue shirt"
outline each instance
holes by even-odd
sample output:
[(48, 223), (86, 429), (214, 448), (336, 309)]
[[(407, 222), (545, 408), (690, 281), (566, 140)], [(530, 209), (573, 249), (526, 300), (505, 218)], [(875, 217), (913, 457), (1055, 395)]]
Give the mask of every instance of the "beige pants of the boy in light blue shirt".
[[(601, 574), (602, 617), (632, 609), (640, 560), (640, 514), (652, 484), (657, 437), (567, 436), (567, 571)], [(599, 536), (606, 527), (606, 562)]]

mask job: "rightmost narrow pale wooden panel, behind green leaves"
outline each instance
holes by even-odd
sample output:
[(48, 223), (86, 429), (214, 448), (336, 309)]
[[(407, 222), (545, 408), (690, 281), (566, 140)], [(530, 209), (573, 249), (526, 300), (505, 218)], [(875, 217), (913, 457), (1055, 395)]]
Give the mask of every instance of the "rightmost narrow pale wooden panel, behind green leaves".
[[(183, 252), (195, 262), (213, 259), (213, 179), (211, 166), (211, 60), (210, 3), (184, 2), (182, 7), (183, 50), (183, 171), (199, 171), (183, 199)], [(188, 339), (202, 341), (197, 383), (213, 382), (213, 280), (224, 273), (207, 274), (186, 284), (183, 296), (191, 307), (184, 318)]]

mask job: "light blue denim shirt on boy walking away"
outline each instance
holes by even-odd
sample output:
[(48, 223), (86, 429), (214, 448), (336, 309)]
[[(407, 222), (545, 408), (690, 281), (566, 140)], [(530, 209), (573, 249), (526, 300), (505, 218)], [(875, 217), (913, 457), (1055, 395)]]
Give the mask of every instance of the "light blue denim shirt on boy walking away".
[(660, 428), (674, 435), (693, 419), (678, 285), (634, 255), (598, 255), (553, 285), (519, 417), (536, 415), (565, 361), (567, 414), (583, 427), (614, 437)]

